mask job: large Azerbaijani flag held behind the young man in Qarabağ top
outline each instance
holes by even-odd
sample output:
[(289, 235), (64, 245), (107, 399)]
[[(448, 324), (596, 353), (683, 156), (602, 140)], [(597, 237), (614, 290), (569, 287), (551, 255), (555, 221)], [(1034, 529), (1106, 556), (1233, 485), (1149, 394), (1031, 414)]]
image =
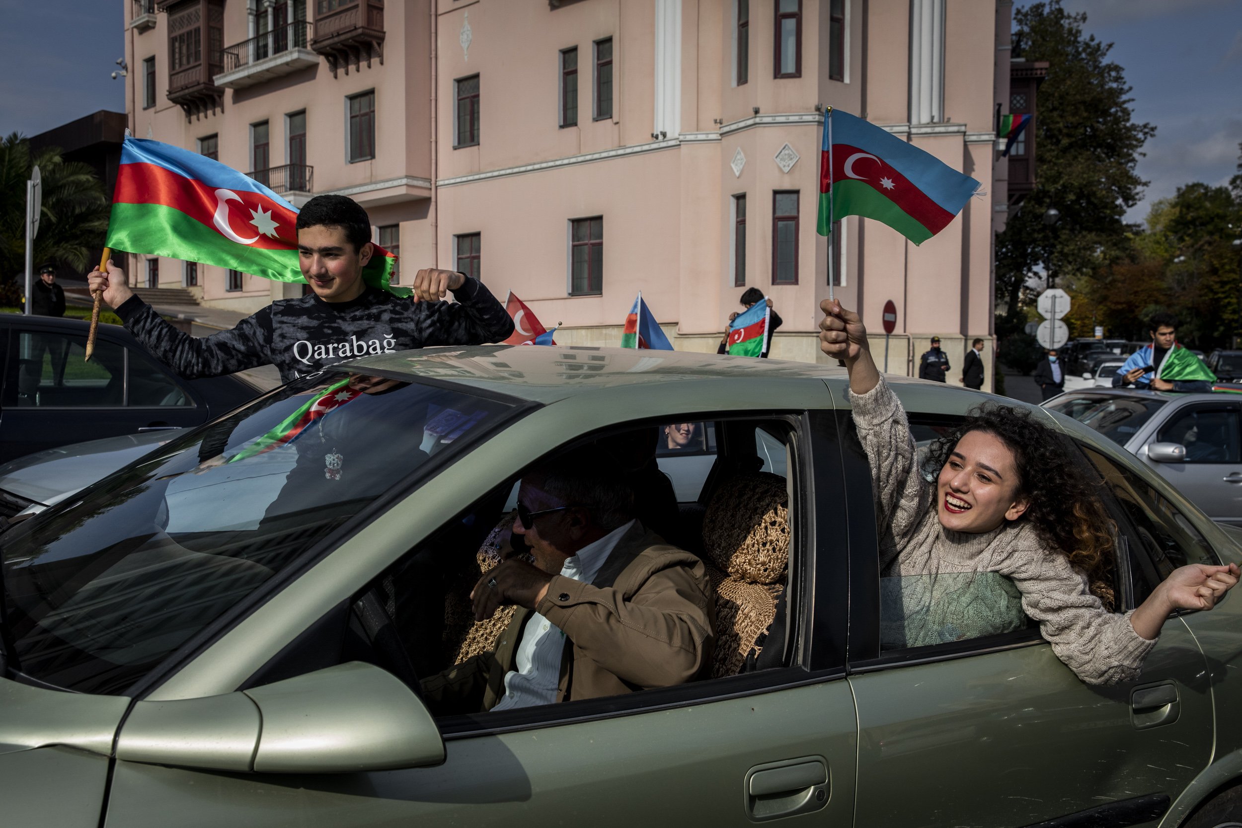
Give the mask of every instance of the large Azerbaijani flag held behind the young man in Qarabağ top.
[[(227, 267), (277, 282), (303, 282), (298, 210), (220, 161), (156, 140), (125, 138), (108, 221), (108, 247)], [(396, 257), (375, 246), (363, 278), (392, 287)]]

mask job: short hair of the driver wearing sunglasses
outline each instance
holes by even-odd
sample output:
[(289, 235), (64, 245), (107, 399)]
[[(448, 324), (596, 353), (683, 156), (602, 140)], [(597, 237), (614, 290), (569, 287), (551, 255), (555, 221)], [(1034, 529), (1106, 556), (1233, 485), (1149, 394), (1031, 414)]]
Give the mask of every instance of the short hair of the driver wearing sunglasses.
[(540, 463), (525, 477), (565, 505), (587, 509), (604, 529), (633, 520), (630, 475), (602, 453), (579, 449)]

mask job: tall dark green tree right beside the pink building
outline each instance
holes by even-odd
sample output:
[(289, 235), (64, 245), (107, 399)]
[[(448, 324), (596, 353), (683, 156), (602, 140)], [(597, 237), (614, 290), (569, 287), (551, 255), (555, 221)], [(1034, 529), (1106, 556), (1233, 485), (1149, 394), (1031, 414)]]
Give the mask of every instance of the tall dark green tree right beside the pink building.
[[(1074, 279), (1128, 252), (1125, 211), (1145, 181), (1134, 171), (1155, 127), (1136, 124), (1122, 67), (1108, 60), (1112, 43), (1083, 34), (1086, 14), (1061, 0), (1015, 11), (1015, 53), (1047, 61), (1040, 87), (1035, 189), (996, 238), (996, 293), (1005, 303), (1002, 335), (1025, 322), (1023, 284), (1038, 267), (1054, 279)], [(1061, 214), (1056, 225), (1043, 216)]]

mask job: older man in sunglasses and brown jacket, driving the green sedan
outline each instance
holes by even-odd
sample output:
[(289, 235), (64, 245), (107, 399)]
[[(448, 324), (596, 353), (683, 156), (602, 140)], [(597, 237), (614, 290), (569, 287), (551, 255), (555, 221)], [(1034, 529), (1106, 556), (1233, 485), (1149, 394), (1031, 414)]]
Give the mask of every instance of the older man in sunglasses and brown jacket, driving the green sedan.
[(503, 561), (471, 597), (479, 621), (505, 603), (520, 608), (492, 652), (422, 683), (433, 711), (619, 695), (709, 669), (715, 612), (707, 570), (635, 518), (620, 469), (585, 452), (532, 469), (513, 533), (534, 565)]

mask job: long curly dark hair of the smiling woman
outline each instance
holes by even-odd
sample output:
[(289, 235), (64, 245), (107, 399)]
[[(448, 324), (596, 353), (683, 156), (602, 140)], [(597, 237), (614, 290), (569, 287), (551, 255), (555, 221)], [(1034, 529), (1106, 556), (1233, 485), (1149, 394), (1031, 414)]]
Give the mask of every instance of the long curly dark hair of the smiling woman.
[(1018, 520), (1030, 520), (1040, 540), (1069, 559), (1087, 576), (1092, 593), (1112, 610), (1117, 526), (1099, 497), (1103, 484), (1088, 473), (1073, 442), (1025, 408), (985, 402), (932, 443), (927, 470), (939, 475), (958, 441), (972, 431), (997, 437), (1013, 452), (1018, 493), (1030, 502)]

